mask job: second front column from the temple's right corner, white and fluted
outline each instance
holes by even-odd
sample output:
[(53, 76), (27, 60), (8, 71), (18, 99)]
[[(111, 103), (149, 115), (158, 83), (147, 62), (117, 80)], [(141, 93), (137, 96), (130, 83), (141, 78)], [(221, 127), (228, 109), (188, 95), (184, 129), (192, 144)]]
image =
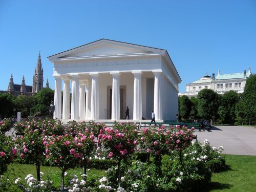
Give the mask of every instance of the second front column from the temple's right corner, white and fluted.
[(134, 75), (134, 91), (133, 91), (133, 119), (142, 119), (142, 94), (141, 94), (141, 71), (132, 72)]

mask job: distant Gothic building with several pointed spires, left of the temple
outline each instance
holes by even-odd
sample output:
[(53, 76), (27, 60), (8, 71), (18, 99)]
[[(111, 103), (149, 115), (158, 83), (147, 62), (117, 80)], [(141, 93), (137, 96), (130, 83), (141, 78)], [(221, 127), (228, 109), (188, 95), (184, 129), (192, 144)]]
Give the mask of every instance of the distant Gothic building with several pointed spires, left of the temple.
[[(42, 69), (41, 63), (41, 55), (39, 52), (39, 56), (37, 59), (37, 64), (35, 68), (35, 74), (33, 75), (33, 86), (26, 86), (25, 77), (23, 75), (21, 84), (14, 84), (13, 76), (11, 74), (9, 86), (7, 91), (1, 91), (1, 93), (10, 93), (11, 95), (26, 95), (31, 96), (33, 93), (37, 93), (41, 89), (43, 89), (44, 82), (44, 70)], [(46, 88), (49, 88), (48, 79), (46, 81)]]

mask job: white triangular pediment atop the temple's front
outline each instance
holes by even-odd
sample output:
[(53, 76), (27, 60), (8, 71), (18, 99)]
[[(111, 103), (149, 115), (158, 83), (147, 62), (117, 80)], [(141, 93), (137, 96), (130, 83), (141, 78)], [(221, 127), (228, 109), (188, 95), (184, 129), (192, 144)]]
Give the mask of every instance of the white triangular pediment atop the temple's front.
[(115, 55), (143, 55), (143, 54), (164, 54), (165, 50), (151, 47), (127, 44), (126, 42), (100, 39), (65, 52), (58, 53), (48, 57), (50, 60), (55, 59), (74, 59), (105, 57)]

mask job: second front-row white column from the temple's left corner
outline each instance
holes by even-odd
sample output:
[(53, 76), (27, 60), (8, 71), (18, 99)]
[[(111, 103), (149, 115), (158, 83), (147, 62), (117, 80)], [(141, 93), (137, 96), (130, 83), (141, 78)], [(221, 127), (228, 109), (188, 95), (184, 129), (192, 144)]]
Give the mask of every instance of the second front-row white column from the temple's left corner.
[(71, 95), (71, 119), (79, 118), (79, 78), (78, 75), (72, 77), (72, 95)]

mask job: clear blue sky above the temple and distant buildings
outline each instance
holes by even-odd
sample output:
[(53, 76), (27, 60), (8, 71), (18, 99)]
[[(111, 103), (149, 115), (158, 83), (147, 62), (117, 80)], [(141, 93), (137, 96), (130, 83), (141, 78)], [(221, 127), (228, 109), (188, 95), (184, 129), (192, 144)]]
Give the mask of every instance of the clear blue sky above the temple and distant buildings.
[(47, 57), (101, 38), (166, 49), (184, 92), (218, 69), (256, 72), (256, 1), (0, 0), (0, 90), (11, 73), (32, 86), (39, 51), (54, 89)]

